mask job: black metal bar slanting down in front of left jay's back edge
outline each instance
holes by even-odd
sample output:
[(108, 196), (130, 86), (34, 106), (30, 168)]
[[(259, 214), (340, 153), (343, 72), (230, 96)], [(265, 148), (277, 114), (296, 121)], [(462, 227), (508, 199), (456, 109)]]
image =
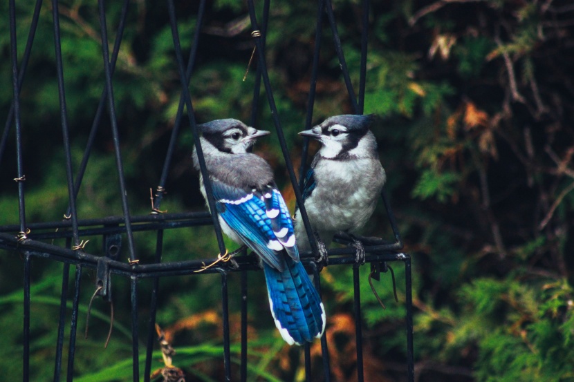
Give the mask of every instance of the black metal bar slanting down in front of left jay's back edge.
[(187, 108), (187, 117), (189, 119), (189, 124), (192, 126), (192, 133), (194, 135), (194, 144), (197, 151), (199, 169), (201, 171), (201, 175), (203, 178), (203, 186), (205, 187), (205, 193), (207, 194), (207, 204), (209, 205), (210, 212), (212, 214), (213, 225), (215, 228), (215, 236), (217, 238), (217, 245), (219, 245), (219, 252), (220, 254), (225, 254), (225, 243), (223, 242), (223, 234), (221, 233), (219, 219), (217, 218), (217, 210), (215, 209), (215, 201), (213, 199), (211, 181), (207, 173), (207, 166), (205, 166), (203, 149), (201, 149), (201, 142), (199, 140), (199, 128), (197, 127), (197, 124), (195, 122), (194, 110), (192, 107), (192, 98), (191, 95), (189, 95), (189, 88), (187, 88), (187, 84), (185, 83), (185, 71), (183, 70), (183, 58), (181, 57), (181, 46), (179, 43), (179, 35), (177, 30), (176, 9), (174, 6), (174, 0), (167, 1), (167, 11), (169, 13), (169, 24), (172, 27), (172, 37), (174, 39), (174, 49), (176, 52), (176, 59), (178, 63), (181, 88), (183, 91), (183, 97), (185, 99), (185, 108)]

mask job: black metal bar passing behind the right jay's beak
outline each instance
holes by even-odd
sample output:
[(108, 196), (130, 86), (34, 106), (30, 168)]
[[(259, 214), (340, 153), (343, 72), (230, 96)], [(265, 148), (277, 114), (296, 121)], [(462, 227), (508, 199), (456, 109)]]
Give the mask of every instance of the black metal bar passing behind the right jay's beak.
[[(311, 128), (313, 122), (313, 108), (315, 107), (315, 95), (317, 91), (317, 74), (319, 73), (319, 56), (321, 52), (321, 37), (323, 35), (323, 15), (325, 0), (319, 0), (317, 9), (317, 27), (315, 28), (315, 51), (313, 52), (313, 67), (311, 69), (311, 82), (309, 83), (309, 98), (307, 99), (307, 115), (305, 118), (305, 130)], [(309, 151), (309, 137), (303, 137), (301, 151), (301, 166), (299, 166), (299, 189), (303, 192), (305, 175), (307, 173), (307, 155)], [(313, 236), (313, 235), (311, 235)], [(314, 237), (313, 237), (314, 238)]]

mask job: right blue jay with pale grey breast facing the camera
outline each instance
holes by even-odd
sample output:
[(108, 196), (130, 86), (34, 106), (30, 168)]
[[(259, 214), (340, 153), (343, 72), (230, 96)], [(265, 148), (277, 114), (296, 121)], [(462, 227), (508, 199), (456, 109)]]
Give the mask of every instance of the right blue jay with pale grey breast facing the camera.
[[(321, 259), (335, 233), (353, 238), (355, 260), (364, 263), (364, 248), (352, 234), (371, 217), (385, 184), (385, 170), (379, 161), (377, 142), (369, 130), (375, 115), (335, 115), (299, 135), (321, 143), (308, 170), (303, 200)], [(311, 249), (302, 222), (295, 212), (295, 237), (299, 249)]]

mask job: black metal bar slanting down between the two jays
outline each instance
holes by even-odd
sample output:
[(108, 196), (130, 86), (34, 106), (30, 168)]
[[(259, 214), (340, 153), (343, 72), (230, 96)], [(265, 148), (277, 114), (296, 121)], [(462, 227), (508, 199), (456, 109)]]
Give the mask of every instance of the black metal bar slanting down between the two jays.
[[(251, 27), (255, 32), (259, 30), (259, 26), (257, 24), (257, 17), (255, 15), (255, 6), (253, 5), (253, 0), (248, 0), (248, 6), (249, 6), (249, 16), (251, 19)], [(283, 128), (281, 128), (281, 122), (279, 122), (279, 112), (277, 111), (277, 106), (275, 105), (273, 90), (271, 89), (271, 83), (269, 81), (269, 75), (267, 73), (265, 51), (263, 50), (261, 36), (259, 37), (255, 36), (254, 38), (259, 56), (259, 66), (261, 66), (261, 74), (263, 75), (263, 85), (265, 85), (267, 100), (269, 103), (269, 108), (271, 109), (271, 116), (273, 119), (273, 123), (275, 124), (275, 131), (277, 132), (277, 137), (279, 138), (279, 145), (281, 146), (281, 152), (283, 153), (283, 157), (285, 158), (285, 165), (287, 167), (287, 172), (289, 173), (289, 180), (291, 181), (291, 186), (293, 187), (293, 192), (295, 193), (295, 198), (297, 199), (297, 206), (299, 207), (303, 224), (307, 231), (307, 235), (310, 238), (311, 248), (313, 249), (313, 252), (315, 254), (318, 254), (317, 243), (315, 242), (315, 238), (313, 237), (313, 233), (311, 230), (311, 223), (309, 223), (309, 219), (307, 217), (307, 211), (303, 204), (303, 197), (301, 195), (301, 190), (299, 190), (299, 187), (297, 187), (298, 183), (297, 183), (297, 177), (295, 176), (295, 171), (293, 170), (293, 162), (291, 161), (289, 149), (287, 147), (287, 143), (285, 140), (285, 135), (283, 133)]]

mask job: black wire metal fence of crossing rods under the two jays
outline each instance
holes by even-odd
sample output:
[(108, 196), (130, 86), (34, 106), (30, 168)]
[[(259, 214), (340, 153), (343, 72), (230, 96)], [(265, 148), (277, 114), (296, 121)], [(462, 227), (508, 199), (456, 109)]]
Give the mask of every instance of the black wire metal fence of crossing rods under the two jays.
[[(30, 58), (30, 53), (32, 52), (32, 45), (35, 39), (35, 32), (37, 30), (37, 23), (39, 19), (39, 12), (41, 8), (41, 0), (36, 1), (36, 6), (33, 11), (33, 17), (30, 23), (30, 32), (28, 35), (28, 41), (26, 43), (26, 49), (24, 50), (24, 55), (21, 62), (17, 62), (17, 46), (16, 46), (16, 17), (15, 17), (15, 0), (10, 0), (10, 41), (11, 41), (11, 61), (12, 61), (12, 82), (13, 82), (13, 102), (10, 108), (10, 112), (6, 118), (6, 125), (3, 130), (3, 134), (0, 140), (0, 164), (3, 154), (6, 151), (6, 146), (8, 145), (8, 136), (12, 128), (15, 129), (15, 148), (17, 153), (17, 177), (14, 179), (18, 184), (18, 195), (19, 195), (19, 222), (15, 222), (13, 225), (5, 225), (0, 227), (0, 248), (6, 249), (2, 256), (12, 256), (12, 252), (15, 252), (21, 256), (24, 262), (24, 296), (22, 304), (24, 305), (24, 317), (23, 317), (23, 345), (24, 345), (24, 367), (23, 367), (23, 381), (30, 380), (30, 320), (34, 317), (30, 314), (30, 266), (35, 258), (46, 258), (49, 260), (55, 260), (63, 263), (63, 274), (62, 274), (62, 293), (61, 293), (61, 307), (59, 310), (59, 325), (57, 334), (56, 347), (56, 359), (54, 367), (54, 381), (59, 381), (61, 379), (60, 373), (62, 370), (62, 359), (64, 352), (67, 351), (67, 375), (66, 381), (73, 381), (73, 370), (74, 370), (74, 355), (75, 355), (75, 341), (77, 334), (77, 316), (78, 307), (80, 304), (80, 284), (82, 271), (86, 269), (95, 269), (96, 274), (96, 292), (95, 295), (102, 296), (104, 299), (109, 300), (111, 298), (110, 289), (110, 277), (111, 275), (118, 275), (130, 280), (130, 296), (131, 296), (131, 331), (132, 331), (132, 343), (133, 343), (133, 381), (140, 381), (140, 345), (138, 344), (138, 332), (143, 330), (143, 328), (138, 327), (138, 282), (143, 278), (152, 278), (154, 280), (154, 286), (151, 291), (151, 303), (149, 306), (149, 326), (145, 328), (147, 330), (147, 345), (145, 349), (145, 374), (143, 376), (144, 381), (149, 381), (150, 371), (151, 371), (151, 352), (154, 347), (154, 342), (156, 340), (156, 332), (154, 329), (156, 308), (157, 308), (157, 295), (158, 295), (158, 285), (160, 278), (165, 278), (169, 276), (180, 276), (180, 275), (193, 275), (194, 277), (201, 277), (204, 274), (218, 273), (221, 275), (221, 301), (223, 310), (223, 365), (225, 367), (225, 378), (230, 380), (231, 373), (231, 359), (230, 359), (230, 326), (229, 326), (229, 310), (228, 310), (228, 274), (232, 272), (241, 273), (241, 295), (244, 297), (241, 303), (241, 381), (247, 380), (247, 354), (248, 354), (248, 343), (247, 343), (247, 305), (249, 299), (248, 296), (248, 283), (247, 274), (250, 271), (257, 271), (259, 267), (257, 265), (257, 260), (254, 256), (239, 256), (235, 258), (237, 265), (232, 266), (229, 262), (218, 262), (217, 264), (205, 268), (205, 265), (211, 265), (214, 260), (189, 260), (180, 262), (161, 262), (163, 254), (163, 234), (167, 229), (178, 229), (180, 227), (191, 227), (198, 225), (213, 225), (214, 233), (219, 244), (219, 249), (221, 254), (225, 253), (225, 245), (223, 243), (221, 229), (219, 227), (219, 222), (216, 216), (210, 215), (207, 212), (193, 212), (193, 213), (161, 213), (160, 204), (163, 198), (163, 191), (165, 187), (165, 182), (167, 180), (167, 174), (169, 172), (172, 155), (174, 153), (174, 147), (178, 139), (178, 133), (180, 131), (180, 126), (183, 120), (187, 117), (189, 125), (192, 126), (192, 133), (194, 136), (194, 142), (199, 153), (200, 167), (203, 174), (206, 173), (205, 162), (203, 156), (201, 155), (201, 146), (198, 140), (198, 128), (194, 119), (194, 111), (192, 106), (191, 97), (189, 95), (189, 81), (192, 77), (192, 71), (194, 68), (194, 63), (196, 61), (196, 52), (198, 46), (198, 39), (200, 36), (200, 28), (203, 21), (203, 16), (205, 13), (205, 0), (201, 0), (198, 10), (198, 18), (196, 22), (196, 28), (193, 35), (192, 49), (189, 52), (189, 59), (187, 60), (187, 68), (184, 66), (183, 53), (180, 48), (180, 39), (178, 35), (178, 28), (176, 23), (176, 12), (174, 8), (174, 1), (168, 0), (166, 2), (167, 10), (169, 13), (169, 21), (172, 28), (172, 36), (174, 42), (174, 48), (176, 52), (176, 59), (178, 64), (178, 73), (181, 80), (181, 95), (178, 107), (178, 112), (176, 114), (176, 122), (174, 129), (172, 131), (172, 137), (169, 142), (169, 149), (165, 153), (165, 164), (163, 166), (163, 172), (160, 176), (158, 182), (158, 187), (154, 196), (153, 211), (147, 216), (131, 216), (128, 202), (127, 202), (127, 192), (126, 184), (124, 180), (122, 157), (120, 155), (120, 140), (118, 137), (118, 122), (115, 115), (115, 102), (113, 96), (113, 84), (112, 76), (115, 70), (116, 60), (118, 59), (118, 52), (120, 51), (120, 44), (122, 42), (122, 35), (124, 28), (126, 27), (126, 20), (129, 10), (129, 0), (124, 0), (122, 8), (122, 16), (120, 19), (120, 24), (118, 26), (118, 33), (115, 37), (115, 44), (113, 50), (109, 52), (108, 44), (102, 45), (102, 61), (104, 65), (105, 81), (106, 86), (102, 92), (100, 103), (98, 105), (98, 111), (93, 120), (91, 126), (91, 131), (89, 134), (89, 140), (84, 151), (84, 157), (82, 162), (79, 164), (79, 169), (75, 176), (73, 175), (73, 162), (71, 157), (71, 144), (69, 137), (68, 128), (68, 117), (66, 114), (66, 96), (64, 91), (64, 71), (62, 67), (62, 50), (61, 50), (61, 39), (60, 39), (60, 26), (59, 26), (59, 11), (58, 11), (58, 1), (52, 1), (53, 10), (53, 28), (55, 37), (55, 52), (56, 52), (56, 65), (57, 65), (57, 82), (59, 85), (59, 104), (61, 110), (62, 118), (62, 135), (64, 137), (64, 153), (66, 157), (66, 180), (68, 185), (68, 211), (64, 215), (64, 220), (55, 222), (35, 222), (29, 223), (26, 221), (26, 210), (25, 210), (25, 191), (26, 191), (26, 169), (24, 169), (24, 164), (22, 160), (23, 151), (26, 147), (23, 146), (22, 137), (26, 134), (23, 131), (20, 123), (20, 90), (24, 82), (26, 75), (26, 68), (28, 66), (28, 60)], [(98, 1), (98, 6), (100, 10), (100, 31), (102, 41), (108, 41), (107, 36), (107, 19), (104, 6), (104, 0)], [(315, 84), (317, 82), (317, 68), (319, 52), (322, 40), (322, 24), (324, 23), (324, 17), (328, 19), (328, 23), (331, 26), (331, 31), (333, 35), (333, 41), (335, 49), (337, 52), (337, 57), (340, 61), (340, 66), (342, 68), (342, 74), (344, 77), (344, 82), (346, 89), (348, 90), (351, 104), (353, 106), (354, 112), (361, 114), (363, 111), (364, 104), (364, 93), (365, 93), (365, 77), (366, 77), (366, 67), (367, 67), (367, 28), (362, 28), (362, 57), (360, 61), (360, 87), (358, 90), (358, 96), (355, 95), (353, 90), (353, 85), (351, 84), (351, 78), (349, 76), (349, 70), (347, 70), (346, 62), (344, 59), (344, 52), (339, 40), (339, 35), (337, 32), (337, 23), (333, 15), (333, 7), (331, 5), (331, 0), (319, 0), (317, 4), (317, 32), (315, 36), (315, 54), (313, 56), (313, 73), (311, 78), (311, 84), (309, 88), (308, 97), (308, 115), (306, 117), (306, 128), (310, 128), (311, 121), (313, 119), (313, 104), (315, 101)], [(254, 38), (255, 46), (257, 47), (257, 75), (253, 93), (252, 102), (252, 121), (253, 124), (255, 116), (257, 115), (257, 105), (259, 103), (259, 89), (261, 87), (261, 82), (266, 90), (266, 97), (270, 107), (270, 112), (275, 124), (277, 137), (279, 139), (279, 144), (281, 145), (281, 150), (286, 161), (286, 167), (288, 170), (288, 175), (290, 182), (293, 184), (293, 189), (295, 191), (295, 197), (297, 199), (297, 204), (302, 206), (302, 194), (300, 191), (301, 185), (297, 184), (297, 178), (295, 176), (295, 171), (293, 169), (293, 164), (290, 160), (290, 153), (286, 140), (284, 137), (283, 130), (281, 128), (281, 115), (275, 106), (275, 100), (273, 98), (273, 91), (270, 85), (270, 80), (268, 78), (268, 73), (266, 69), (266, 59), (265, 59), (265, 39), (266, 39), (266, 28), (268, 15), (270, 10), (270, 2), (268, 0), (263, 4), (263, 18), (261, 21), (257, 20), (254, 4), (252, 0), (248, 0), (248, 8), (250, 12), (250, 21), (252, 26), (252, 37)], [(369, 12), (369, 0), (363, 1), (363, 15), (362, 15), (362, 25), (367, 26)], [(184, 114), (187, 111), (187, 115)], [(78, 190), (82, 184), (82, 178), (84, 177), (84, 172), (86, 171), (86, 164), (90, 156), (93, 142), (95, 139), (95, 133), (98, 131), (100, 124), (102, 122), (102, 117), (104, 117), (104, 109), (109, 112), (109, 120), (111, 124), (111, 131), (113, 134), (113, 144), (116, 168), (119, 178), (120, 192), (118, 195), (122, 200), (123, 215), (120, 217), (107, 217), (98, 218), (90, 220), (80, 220), (77, 218), (76, 202)], [(305, 163), (308, 149), (308, 140), (305, 140), (303, 158), (302, 158), (302, 168), (300, 173), (305, 171)], [(207, 176), (203, 179), (208, 180)], [(210, 184), (206, 182), (206, 188), (210, 190)], [(214, 200), (212, 195), (208, 192), (209, 203), (211, 211), (216, 211), (214, 208)], [(406, 322), (406, 333), (407, 341), (405, 347), (407, 348), (407, 359), (405, 360), (405, 374), (408, 381), (414, 381), (414, 364), (413, 364), (413, 327), (412, 327), (412, 305), (411, 305), (411, 262), (408, 254), (401, 252), (402, 242), (396, 227), (396, 222), (394, 220), (393, 213), (385, 191), (382, 192), (382, 202), (385, 204), (387, 209), (387, 215), (389, 217), (389, 225), (394, 232), (394, 238), (392, 240), (383, 239), (373, 239), (364, 238), (364, 249), (366, 251), (366, 260), (371, 265), (371, 276), (374, 278), (378, 277), (380, 271), (385, 271), (387, 269), (387, 262), (402, 262), (405, 265), (405, 322)], [(308, 232), (310, 232), (310, 225), (304, 208), (302, 211), (302, 221)], [(386, 223), (385, 223), (386, 224)], [(136, 231), (149, 231), (154, 232), (156, 235), (156, 255), (155, 261), (143, 264), (138, 260), (137, 252), (134, 245), (133, 232)], [(84, 241), (82, 237), (85, 236), (101, 236), (103, 242), (103, 250), (100, 254), (90, 254), (84, 251)], [(65, 238), (66, 245), (64, 247), (53, 245), (49, 243), (49, 240), (55, 238)], [(122, 239), (124, 238), (124, 239)], [(313, 247), (313, 252), (308, 254), (302, 254), (302, 261), (308, 265), (310, 269), (313, 270), (315, 274), (316, 287), (320, 290), (320, 273), (317, 270), (317, 264), (314, 260), (315, 254), (317, 254), (317, 245), (313, 238), (310, 236), (311, 244)], [(127, 248), (129, 251), (129, 258), (122, 259), (118, 258), (119, 248), (122, 245), (122, 240), (127, 240)], [(344, 238), (338, 238), (339, 242), (345, 243)], [(331, 249), (329, 251), (329, 266), (346, 266), (353, 267), (353, 285), (354, 285), (354, 314), (355, 323), (357, 325), (355, 329), (356, 334), (356, 358), (358, 361), (357, 372), (358, 381), (363, 381), (363, 365), (362, 365), (362, 328), (361, 328), (361, 302), (360, 302), (360, 289), (359, 289), (359, 267), (360, 265), (355, 264), (354, 256), (355, 249), (353, 247), (349, 248), (338, 248)], [(70, 272), (70, 265), (75, 265), (75, 284), (72, 293), (72, 307), (71, 314), (68, 318), (66, 309), (66, 304), (68, 303), (68, 278)], [(196, 273), (198, 269), (204, 269), (201, 273)], [(66, 321), (70, 320), (70, 325), (67, 327)], [(69, 330), (69, 343), (67, 350), (64, 345), (64, 331)], [(327, 328), (328, 330), (328, 328)], [(326, 341), (326, 336), (322, 337), (322, 361), (323, 361), (323, 373), (324, 380), (331, 381), (330, 365)], [(306, 379), (311, 381), (311, 356), (309, 352), (309, 346), (304, 347), (305, 354), (305, 367), (306, 367)], [(17, 357), (17, 355), (15, 355)]]

